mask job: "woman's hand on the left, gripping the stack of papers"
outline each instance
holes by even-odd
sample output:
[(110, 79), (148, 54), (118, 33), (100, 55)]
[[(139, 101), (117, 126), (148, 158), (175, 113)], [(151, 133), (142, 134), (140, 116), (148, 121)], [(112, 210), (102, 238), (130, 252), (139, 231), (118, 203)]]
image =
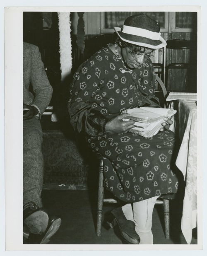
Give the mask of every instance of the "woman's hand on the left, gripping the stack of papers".
[(135, 121), (123, 121), (123, 118), (127, 118), (128, 116), (130, 116), (130, 114), (123, 113), (119, 116), (111, 118), (111, 120), (106, 123), (106, 133), (127, 133), (128, 130), (134, 128)]

